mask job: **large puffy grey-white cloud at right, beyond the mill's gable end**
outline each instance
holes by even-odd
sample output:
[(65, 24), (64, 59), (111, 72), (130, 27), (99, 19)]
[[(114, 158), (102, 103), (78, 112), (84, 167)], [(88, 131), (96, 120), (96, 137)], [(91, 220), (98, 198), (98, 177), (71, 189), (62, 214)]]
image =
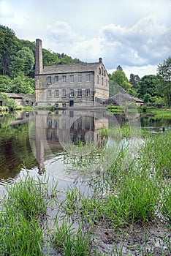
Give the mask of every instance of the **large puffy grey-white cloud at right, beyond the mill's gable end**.
[[(122, 65), (156, 64), (170, 54), (171, 29), (153, 16), (142, 18), (126, 28), (110, 24), (101, 29), (105, 57), (117, 59)], [(116, 47), (116, 45), (118, 47)]]

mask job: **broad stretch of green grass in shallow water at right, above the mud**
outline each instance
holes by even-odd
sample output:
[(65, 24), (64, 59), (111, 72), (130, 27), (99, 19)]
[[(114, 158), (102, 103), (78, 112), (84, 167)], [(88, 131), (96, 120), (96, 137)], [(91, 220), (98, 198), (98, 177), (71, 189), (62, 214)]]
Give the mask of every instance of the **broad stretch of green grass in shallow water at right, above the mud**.
[(170, 138), (170, 131), (146, 135), (124, 165), (128, 153), (122, 148), (110, 169), (92, 181), (92, 195), (81, 195), (77, 189), (66, 192), (66, 214), (76, 213), (92, 225), (103, 222), (108, 227), (145, 225), (160, 214), (170, 222), (170, 183), (165, 182), (170, 178)]

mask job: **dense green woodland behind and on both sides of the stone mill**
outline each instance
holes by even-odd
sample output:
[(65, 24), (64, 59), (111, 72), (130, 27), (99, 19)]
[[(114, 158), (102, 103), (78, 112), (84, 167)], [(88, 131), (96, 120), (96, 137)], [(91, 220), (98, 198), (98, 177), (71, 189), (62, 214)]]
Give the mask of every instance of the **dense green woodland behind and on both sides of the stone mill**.
[[(18, 39), (15, 31), (7, 26), (0, 26), (0, 92), (34, 94), (34, 59), (35, 42)], [(64, 53), (54, 53), (42, 49), (43, 64), (75, 64), (82, 62), (72, 59)], [(110, 96), (115, 92), (115, 85), (123, 87), (134, 97), (146, 103), (161, 104), (171, 107), (171, 57), (158, 65), (156, 75), (131, 74), (126, 78), (121, 66), (110, 76)]]

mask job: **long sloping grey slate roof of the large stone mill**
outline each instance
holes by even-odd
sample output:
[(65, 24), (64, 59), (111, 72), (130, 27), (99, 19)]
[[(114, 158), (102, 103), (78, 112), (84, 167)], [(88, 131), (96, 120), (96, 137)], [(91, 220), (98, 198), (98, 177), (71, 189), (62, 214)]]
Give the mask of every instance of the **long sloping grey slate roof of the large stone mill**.
[(79, 64), (58, 64), (56, 66), (45, 66), (42, 74), (74, 73), (95, 71), (102, 63), (79, 63)]

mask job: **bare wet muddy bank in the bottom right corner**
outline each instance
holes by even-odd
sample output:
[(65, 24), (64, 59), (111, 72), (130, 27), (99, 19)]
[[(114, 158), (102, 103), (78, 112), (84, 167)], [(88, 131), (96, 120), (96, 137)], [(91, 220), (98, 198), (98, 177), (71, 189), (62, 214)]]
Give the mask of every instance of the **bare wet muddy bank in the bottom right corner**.
[(94, 234), (93, 246), (102, 255), (171, 255), (170, 227), (159, 219), (120, 230), (100, 225), (94, 227)]

